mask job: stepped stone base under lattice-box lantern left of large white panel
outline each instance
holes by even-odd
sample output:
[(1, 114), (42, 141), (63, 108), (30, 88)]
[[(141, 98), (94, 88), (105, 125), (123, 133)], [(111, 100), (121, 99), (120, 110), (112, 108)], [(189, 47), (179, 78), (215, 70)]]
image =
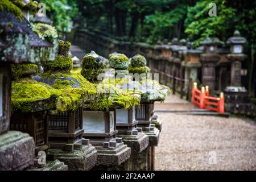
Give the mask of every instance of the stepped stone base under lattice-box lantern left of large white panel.
[(68, 165), (69, 171), (87, 171), (96, 164), (97, 151), (92, 144), (83, 145), (81, 150), (72, 152), (49, 149), (47, 159), (64, 162)]

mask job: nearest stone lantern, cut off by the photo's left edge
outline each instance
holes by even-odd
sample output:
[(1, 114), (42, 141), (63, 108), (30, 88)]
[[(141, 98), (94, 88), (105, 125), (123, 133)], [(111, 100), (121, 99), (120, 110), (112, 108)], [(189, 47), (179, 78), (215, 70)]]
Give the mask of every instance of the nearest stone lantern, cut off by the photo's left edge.
[[(20, 132), (26, 132), (28, 125), (20, 123), (19, 129), (15, 129), (19, 131), (9, 131), (9, 127), (14, 129), (13, 124), (10, 125), (10, 120), (11, 111), (13, 112), (13, 106), (15, 105), (13, 94), (11, 95), (11, 77), (16, 78), (17, 75), (22, 73), (15, 72), (11, 75), (11, 64), (38, 63), (41, 60), (52, 60), (56, 53), (53, 44), (40, 39), (31, 30), (26, 16), (23, 16), (23, 8), (30, 9), (30, 7), (21, 6), (15, 1), (3, 0), (0, 2), (0, 170), (29, 168), (33, 166), (35, 157), (35, 143), (32, 138), (34, 135), (30, 137), (28, 134)], [(26, 65), (20, 66), (26, 67)], [(26, 84), (26, 81), (24, 82)], [(23, 99), (23, 102), (27, 102), (27, 100)], [(22, 120), (22, 118), (19, 119)], [(33, 122), (31, 121), (31, 123)], [(42, 124), (43, 121), (41, 120), (40, 123)], [(40, 130), (38, 133), (46, 134), (44, 130)], [(45, 139), (43, 135), (40, 135), (42, 140)], [(47, 141), (44, 140), (42, 143), (46, 144)]]

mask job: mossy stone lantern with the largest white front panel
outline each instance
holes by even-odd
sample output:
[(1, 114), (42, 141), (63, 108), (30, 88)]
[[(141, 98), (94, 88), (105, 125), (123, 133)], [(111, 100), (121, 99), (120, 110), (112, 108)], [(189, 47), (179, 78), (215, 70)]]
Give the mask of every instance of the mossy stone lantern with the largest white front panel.
[[(86, 61), (91, 63), (92, 68), (97, 67), (98, 63), (102, 63), (102, 68), (105, 67), (103, 57), (98, 56), (95, 52), (86, 55), (83, 64), (87, 64)], [(81, 74), (84, 72), (83, 70), (84, 67)], [(88, 75), (91, 74), (94, 75), (94, 78), (101, 78), (94, 70), (92, 72), (88, 70)], [(86, 75), (84, 76), (86, 77)], [(116, 92), (114, 85), (110, 84), (110, 80), (110, 78), (98, 80), (97, 92), (100, 95), (91, 101), (84, 102), (83, 137), (90, 139), (92, 145), (96, 147), (98, 155), (97, 166), (93, 169), (109, 169), (113, 166), (119, 166), (129, 159), (131, 154), (130, 148), (123, 144), (121, 138), (116, 137), (116, 110), (110, 106), (114, 102), (118, 102), (123, 96)], [(95, 82), (94, 80), (90, 81)]]

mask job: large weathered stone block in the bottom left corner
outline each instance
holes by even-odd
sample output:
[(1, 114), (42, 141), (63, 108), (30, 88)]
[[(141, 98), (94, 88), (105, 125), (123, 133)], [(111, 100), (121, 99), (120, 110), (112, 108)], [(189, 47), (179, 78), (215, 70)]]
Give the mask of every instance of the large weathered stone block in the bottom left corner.
[(20, 131), (7, 131), (0, 135), (0, 156), (0, 171), (29, 168), (34, 165), (34, 139)]

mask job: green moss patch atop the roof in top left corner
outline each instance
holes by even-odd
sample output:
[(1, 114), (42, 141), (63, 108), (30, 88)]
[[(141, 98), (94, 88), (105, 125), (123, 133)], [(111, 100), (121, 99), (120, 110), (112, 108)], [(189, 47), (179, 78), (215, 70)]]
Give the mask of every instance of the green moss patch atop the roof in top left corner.
[(23, 20), (22, 11), (19, 9), (19, 7), (15, 6), (13, 2), (10, 2), (8, 0), (1, 0), (0, 11), (3, 11), (3, 10), (6, 10), (9, 13), (15, 14), (20, 21)]

